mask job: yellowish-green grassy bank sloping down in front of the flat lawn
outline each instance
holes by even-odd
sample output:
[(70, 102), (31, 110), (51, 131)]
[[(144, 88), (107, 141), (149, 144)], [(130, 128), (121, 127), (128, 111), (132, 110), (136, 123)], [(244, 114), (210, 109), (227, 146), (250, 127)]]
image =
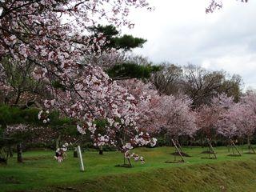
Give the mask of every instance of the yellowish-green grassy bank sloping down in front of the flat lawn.
[[(255, 191), (256, 161), (222, 162), (101, 177), (75, 191)], [(62, 189), (65, 189), (62, 188)], [(54, 191), (54, 189), (49, 189)]]

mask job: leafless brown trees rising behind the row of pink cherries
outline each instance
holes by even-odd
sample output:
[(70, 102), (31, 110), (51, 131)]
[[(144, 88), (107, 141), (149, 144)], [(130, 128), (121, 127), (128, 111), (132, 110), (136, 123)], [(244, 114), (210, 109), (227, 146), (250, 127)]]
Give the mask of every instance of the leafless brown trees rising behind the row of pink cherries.
[(225, 71), (212, 71), (200, 66), (178, 66), (166, 64), (154, 73), (150, 81), (162, 94), (186, 94), (193, 100), (193, 106), (209, 104), (218, 94), (234, 97), (238, 102), (242, 94), (242, 78), (238, 74), (230, 76)]

